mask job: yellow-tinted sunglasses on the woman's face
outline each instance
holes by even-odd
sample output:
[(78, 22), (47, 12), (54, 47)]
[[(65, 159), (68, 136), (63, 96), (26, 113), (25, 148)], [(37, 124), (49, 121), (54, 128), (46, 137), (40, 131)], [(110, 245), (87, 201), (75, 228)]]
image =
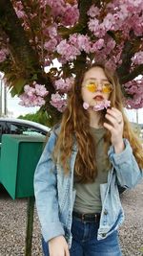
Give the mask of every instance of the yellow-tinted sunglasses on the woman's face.
[[(96, 92), (97, 91), (97, 88), (98, 88), (98, 82), (95, 82), (95, 81), (91, 81), (91, 82), (88, 82), (85, 87), (91, 91), (91, 92)], [(112, 83), (111, 82), (103, 82), (102, 83), (102, 92), (103, 93), (111, 93), (112, 92)]]

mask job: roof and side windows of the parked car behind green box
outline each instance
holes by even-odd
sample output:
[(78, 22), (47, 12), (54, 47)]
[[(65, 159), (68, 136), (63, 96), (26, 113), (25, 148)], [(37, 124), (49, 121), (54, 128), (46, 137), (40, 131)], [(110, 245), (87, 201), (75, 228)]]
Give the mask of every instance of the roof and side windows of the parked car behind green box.
[(47, 135), (51, 128), (29, 120), (0, 117), (0, 142), (3, 134)]

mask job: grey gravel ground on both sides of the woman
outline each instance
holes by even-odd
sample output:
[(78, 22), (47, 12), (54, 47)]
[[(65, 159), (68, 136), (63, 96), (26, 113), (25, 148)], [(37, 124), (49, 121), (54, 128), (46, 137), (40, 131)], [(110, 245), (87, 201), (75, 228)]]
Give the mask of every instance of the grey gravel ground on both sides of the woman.
[[(123, 256), (143, 256), (143, 182), (132, 191), (126, 191), (121, 199), (126, 214), (119, 231)], [(27, 199), (13, 201), (8, 193), (0, 191), (0, 256), (24, 256), (26, 214)], [(36, 211), (32, 256), (42, 256)]]

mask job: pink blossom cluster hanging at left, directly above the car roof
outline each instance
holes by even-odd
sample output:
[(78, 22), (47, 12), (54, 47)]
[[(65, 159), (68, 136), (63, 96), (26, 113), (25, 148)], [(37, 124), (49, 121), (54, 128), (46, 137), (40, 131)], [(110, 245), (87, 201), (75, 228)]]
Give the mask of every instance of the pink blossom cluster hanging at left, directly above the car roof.
[(24, 93), (20, 95), (21, 102), (19, 105), (25, 106), (42, 106), (45, 105), (44, 97), (48, 95), (48, 91), (45, 88), (45, 85), (38, 84), (36, 81), (33, 81), (31, 86), (26, 84), (24, 86)]

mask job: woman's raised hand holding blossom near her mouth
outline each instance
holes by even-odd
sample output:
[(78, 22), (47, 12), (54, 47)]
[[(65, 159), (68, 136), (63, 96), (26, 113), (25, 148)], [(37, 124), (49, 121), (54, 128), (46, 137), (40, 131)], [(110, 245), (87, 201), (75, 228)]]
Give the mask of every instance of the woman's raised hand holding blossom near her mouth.
[(104, 123), (103, 126), (108, 128), (112, 133), (112, 146), (114, 147), (114, 151), (119, 153), (124, 150), (124, 142), (123, 142), (123, 117), (122, 113), (112, 107), (111, 109), (107, 109), (107, 113), (105, 117), (110, 121), (110, 124)]

